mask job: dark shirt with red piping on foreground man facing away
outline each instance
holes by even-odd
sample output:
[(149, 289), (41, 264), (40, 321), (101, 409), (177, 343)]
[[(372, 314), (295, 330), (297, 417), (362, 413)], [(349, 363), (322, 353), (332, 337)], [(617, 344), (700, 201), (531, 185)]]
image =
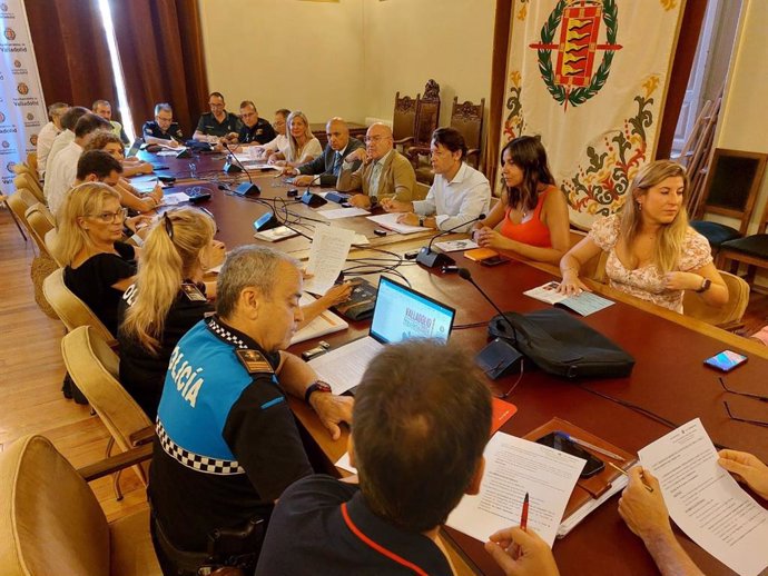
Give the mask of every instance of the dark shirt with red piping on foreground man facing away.
[(398, 529), (376, 516), (356, 486), (316, 475), (286, 489), (272, 514), (256, 576), (274, 574), (451, 576), (453, 573), (434, 540)]

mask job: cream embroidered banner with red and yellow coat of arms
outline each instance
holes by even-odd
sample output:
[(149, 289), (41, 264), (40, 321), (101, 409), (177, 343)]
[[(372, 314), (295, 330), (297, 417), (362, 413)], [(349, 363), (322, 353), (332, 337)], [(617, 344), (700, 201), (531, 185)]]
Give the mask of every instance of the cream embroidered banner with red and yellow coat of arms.
[(616, 212), (653, 158), (685, 0), (515, 0), (503, 147), (540, 135), (571, 221)]

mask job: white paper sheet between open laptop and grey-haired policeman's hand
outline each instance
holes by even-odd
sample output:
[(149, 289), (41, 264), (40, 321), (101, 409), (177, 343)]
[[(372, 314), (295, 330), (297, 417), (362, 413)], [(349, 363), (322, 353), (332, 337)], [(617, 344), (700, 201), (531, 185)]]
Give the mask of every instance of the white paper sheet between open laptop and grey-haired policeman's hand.
[(344, 394), (360, 384), (368, 363), (383, 347), (382, 342), (366, 336), (313, 358), (308, 364), (331, 385), (334, 394)]

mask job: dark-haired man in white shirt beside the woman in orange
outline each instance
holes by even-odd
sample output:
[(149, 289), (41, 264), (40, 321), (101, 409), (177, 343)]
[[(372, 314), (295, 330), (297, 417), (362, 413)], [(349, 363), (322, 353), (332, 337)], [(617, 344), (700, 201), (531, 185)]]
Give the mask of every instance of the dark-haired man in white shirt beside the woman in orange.
[[(491, 186), (488, 178), (463, 161), (466, 143), (457, 130), (437, 128), (430, 149), (435, 180), (426, 198), (413, 202), (388, 199), (382, 201), (382, 206), (388, 212), (405, 212), (397, 219), (401, 224), (466, 231), (489, 210)], [(464, 222), (466, 226), (462, 227)]]

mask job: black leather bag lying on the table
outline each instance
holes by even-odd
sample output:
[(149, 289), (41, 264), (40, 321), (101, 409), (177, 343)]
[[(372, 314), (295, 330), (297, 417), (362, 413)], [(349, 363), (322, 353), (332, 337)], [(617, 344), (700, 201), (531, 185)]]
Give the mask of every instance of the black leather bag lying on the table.
[(563, 378), (621, 378), (634, 358), (609, 338), (559, 308), (528, 314), (505, 312), (489, 324), (492, 337), (505, 338), (547, 374)]

